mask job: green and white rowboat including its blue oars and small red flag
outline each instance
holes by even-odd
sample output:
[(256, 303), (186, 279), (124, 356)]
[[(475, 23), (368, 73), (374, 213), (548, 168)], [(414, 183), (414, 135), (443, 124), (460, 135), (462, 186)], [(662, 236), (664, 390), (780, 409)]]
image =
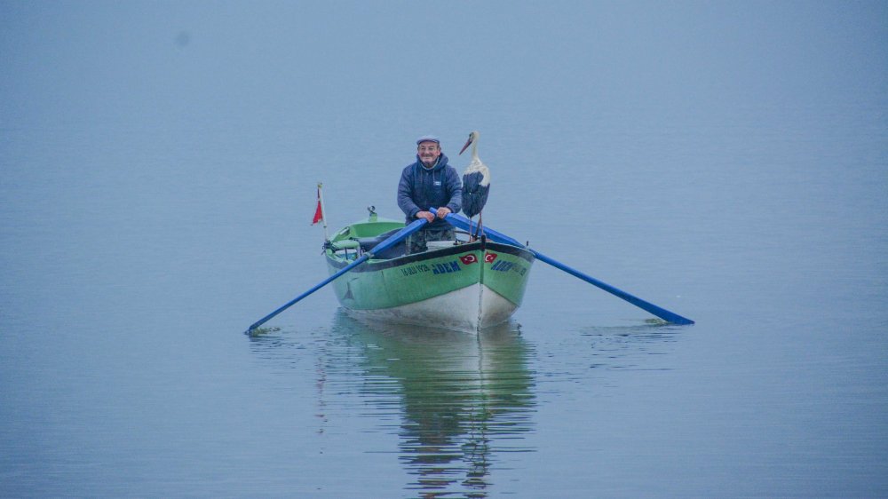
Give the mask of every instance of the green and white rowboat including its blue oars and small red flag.
[[(427, 222), (417, 219), (405, 225), (378, 218), (372, 206), (368, 210), (366, 220), (345, 226), (333, 238), (325, 235), (324, 254), (330, 273), (327, 279), (253, 322), (244, 333), (258, 334), (267, 321), (330, 282), (335, 282), (333, 289), (346, 312), (359, 319), (478, 332), (508, 320), (518, 309), (530, 267), (536, 260), (604, 289), (662, 321), (694, 324), (678, 313), (599, 281), (489, 227), (484, 227), (480, 240), (461, 240), (456, 236), (453, 241), (433, 242), (426, 251), (408, 254), (405, 238)], [(438, 213), (435, 208), (430, 210)], [(477, 229), (472, 220), (458, 213), (445, 217), (460, 229)], [(324, 220), (320, 184), (314, 223), (319, 220)]]

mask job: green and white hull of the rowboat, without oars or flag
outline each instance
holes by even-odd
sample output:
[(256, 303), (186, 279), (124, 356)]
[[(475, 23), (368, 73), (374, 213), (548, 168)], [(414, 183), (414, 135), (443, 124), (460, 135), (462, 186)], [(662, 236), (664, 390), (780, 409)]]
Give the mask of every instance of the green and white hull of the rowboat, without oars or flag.
[[(330, 275), (342, 271), (404, 222), (369, 217), (339, 230), (325, 244)], [(478, 332), (507, 321), (527, 288), (534, 253), (482, 237), (429, 242), (405, 254), (401, 242), (372, 255), (333, 281), (339, 304), (357, 319)]]

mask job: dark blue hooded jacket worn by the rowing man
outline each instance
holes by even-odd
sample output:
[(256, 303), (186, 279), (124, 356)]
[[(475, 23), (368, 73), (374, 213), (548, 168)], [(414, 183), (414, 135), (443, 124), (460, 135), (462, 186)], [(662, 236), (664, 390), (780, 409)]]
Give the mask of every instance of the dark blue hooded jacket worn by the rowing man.
[[(463, 184), (456, 169), (448, 164), (448, 158), (441, 153), (438, 163), (431, 169), (425, 168), (416, 156), (416, 162), (408, 164), (400, 173), (398, 184), (398, 206), (407, 215), (407, 223), (416, 220), (416, 213), (430, 208), (447, 206), (458, 213), (463, 204)], [(445, 228), (446, 220), (435, 218), (429, 228)]]

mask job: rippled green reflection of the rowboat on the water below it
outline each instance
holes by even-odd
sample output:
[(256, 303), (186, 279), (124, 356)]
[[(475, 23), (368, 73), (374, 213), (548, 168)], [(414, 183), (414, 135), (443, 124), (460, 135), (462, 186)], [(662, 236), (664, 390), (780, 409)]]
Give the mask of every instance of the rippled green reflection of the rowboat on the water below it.
[[(402, 396), (400, 459), (426, 497), (461, 489), (485, 496), (496, 455), (527, 451), (534, 381), (527, 344), (515, 324), (478, 336), (374, 327), (340, 316), (341, 334), (367, 346), (368, 372), (393, 380)], [(374, 392), (379, 384), (369, 384)]]

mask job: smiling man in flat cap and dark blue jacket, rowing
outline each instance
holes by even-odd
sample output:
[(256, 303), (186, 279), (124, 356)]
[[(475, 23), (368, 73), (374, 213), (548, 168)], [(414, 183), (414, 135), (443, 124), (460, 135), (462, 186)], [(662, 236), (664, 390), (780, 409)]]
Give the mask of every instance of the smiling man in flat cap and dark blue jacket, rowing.
[[(427, 241), (456, 239), (453, 226), (444, 217), (457, 213), (463, 203), (463, 185), (456, 169), (448, 164), (441, 152), (440, 140), (425, 135), (416, 140), (416, 162), (408, 164), (400, 173), (398, 206), (407, 216), (407, 223), (425, 218), (428, 225), (407, 240), (409, 253), (425, 251)], [(438, 209), (435, 217), (429, 209)]]

